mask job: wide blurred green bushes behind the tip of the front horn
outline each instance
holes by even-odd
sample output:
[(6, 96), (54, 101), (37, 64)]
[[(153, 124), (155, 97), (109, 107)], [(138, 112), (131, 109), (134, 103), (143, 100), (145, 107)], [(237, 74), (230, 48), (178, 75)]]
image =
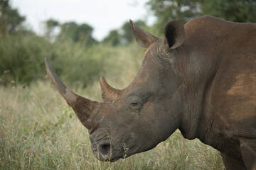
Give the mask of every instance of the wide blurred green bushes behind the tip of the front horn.
[[(0, 84), (29, 85), (31, 81), (45, 79), (44, 59), (47, 57), (55, 72), (66, 82), (87, 86), (105, 72), (103, 63), (112, 55), (105, 49), (98, 45), (50, 43), (33, 34), (5, 35), (0, 39)], [(9, 72), (4, 74), (7, 70)]]

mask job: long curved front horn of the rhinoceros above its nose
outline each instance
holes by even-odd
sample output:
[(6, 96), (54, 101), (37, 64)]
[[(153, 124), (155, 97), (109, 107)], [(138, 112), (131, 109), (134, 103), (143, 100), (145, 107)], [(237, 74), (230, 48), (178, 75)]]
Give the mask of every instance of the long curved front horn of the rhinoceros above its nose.
[(99, 107), (100, 103), (97, 101), (90, 101), (87, 98), (75, 94), (68, 88), (68, 86), (63, 84), (57, 74), (53, 71), (52, 67), (50, 67), (47, 59), (45, 60), (45, 62), (48, 77), (53, 82), (55, 88), (58, 90), (61, 96), (65, 98), (71, 108), (73, 108), (82, 125), (84, 125), (87, 129), (92, 128), (91, 123), (89, 123), (87, 119), (89, 118), (90, 114), (95, 111), (95, 108)]

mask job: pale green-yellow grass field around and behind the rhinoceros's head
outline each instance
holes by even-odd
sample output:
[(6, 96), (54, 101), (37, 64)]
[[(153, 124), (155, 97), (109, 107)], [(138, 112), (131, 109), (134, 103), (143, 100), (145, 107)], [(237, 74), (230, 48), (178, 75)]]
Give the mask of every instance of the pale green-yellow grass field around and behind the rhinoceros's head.
[[(134, 78), (144, 50), (135, 45), (112, 50), (115, 52), (108, 62), (117, 67), (107, 69), (106, 79), (121, 89)], [(98, 81), (85, 89), (76, 86), (75, 91), (101, 100)], [(87, 130), (46, 78), (30, 86), (15, 82), (0, 86), (0, 169), (224, 169), (224, 166), (218, 151), (199, 140), (183, 139), (178, 130), (148, 152), (114, 163), (99, 162), (90, 149)]]

